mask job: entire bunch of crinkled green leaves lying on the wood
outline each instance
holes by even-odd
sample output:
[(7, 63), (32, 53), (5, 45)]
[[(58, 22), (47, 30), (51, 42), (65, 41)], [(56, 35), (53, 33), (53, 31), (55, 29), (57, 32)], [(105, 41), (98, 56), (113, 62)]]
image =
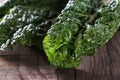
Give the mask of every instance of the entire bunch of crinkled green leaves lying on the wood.
[(0, 49), (37, 46), (54, 66), (75, 67), (118, 30), (119, 8), (120, 0), (8, 0), (0, 7)]

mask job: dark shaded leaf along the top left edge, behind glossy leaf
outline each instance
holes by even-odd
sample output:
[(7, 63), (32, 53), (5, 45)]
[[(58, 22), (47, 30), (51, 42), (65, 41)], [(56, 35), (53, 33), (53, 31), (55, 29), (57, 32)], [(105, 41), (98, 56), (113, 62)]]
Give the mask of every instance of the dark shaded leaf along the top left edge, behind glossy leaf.
[(14, 6), (30, 6), (34, 8), (47, 8), (51, 10), (61, 10), (68, 0), (5, 0), (0, 6), (0, 17), (8, 13)]

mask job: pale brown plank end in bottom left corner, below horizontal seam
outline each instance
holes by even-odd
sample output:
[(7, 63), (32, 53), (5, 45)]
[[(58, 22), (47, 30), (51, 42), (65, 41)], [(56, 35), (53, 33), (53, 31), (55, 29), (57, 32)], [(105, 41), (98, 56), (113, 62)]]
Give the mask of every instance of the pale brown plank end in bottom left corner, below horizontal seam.
[(17, 56), (0, 56), (0, 80), (22, 80)]

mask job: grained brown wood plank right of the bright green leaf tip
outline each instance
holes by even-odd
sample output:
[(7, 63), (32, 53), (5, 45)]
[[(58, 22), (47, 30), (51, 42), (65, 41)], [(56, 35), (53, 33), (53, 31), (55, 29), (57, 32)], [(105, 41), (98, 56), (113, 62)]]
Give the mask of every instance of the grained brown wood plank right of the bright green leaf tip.
[(120, 30), (97, 54), (84, 57), (77, 80), (120, 80)]

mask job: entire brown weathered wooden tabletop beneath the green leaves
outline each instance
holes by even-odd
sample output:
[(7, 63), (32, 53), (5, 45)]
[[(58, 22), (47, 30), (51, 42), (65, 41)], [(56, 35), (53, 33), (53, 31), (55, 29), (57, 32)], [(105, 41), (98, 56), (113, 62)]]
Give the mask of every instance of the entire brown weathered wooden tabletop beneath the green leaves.
[(37, 49), (14, 46), (12, 52), (0, 52), (0, 80), (120, 80), (120, 30), (94, 56), (83, 57), (71, 69), (49, 64)]

